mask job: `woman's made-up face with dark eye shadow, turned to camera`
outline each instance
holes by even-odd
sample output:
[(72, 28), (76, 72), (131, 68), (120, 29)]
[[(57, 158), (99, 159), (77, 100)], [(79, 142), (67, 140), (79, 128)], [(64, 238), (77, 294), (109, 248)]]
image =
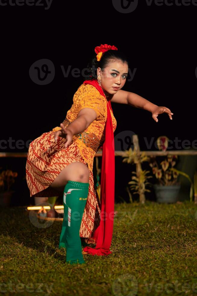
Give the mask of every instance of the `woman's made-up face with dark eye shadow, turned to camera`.
[(116, 60), (109, 63), (103, 71), (101, 71), (101, 68), (97, 68), (97, 76), (99, 75), (101, 76), (101, 87), (105, 95), (115, 95), (126, 82), (128, 65), (120, 60)]

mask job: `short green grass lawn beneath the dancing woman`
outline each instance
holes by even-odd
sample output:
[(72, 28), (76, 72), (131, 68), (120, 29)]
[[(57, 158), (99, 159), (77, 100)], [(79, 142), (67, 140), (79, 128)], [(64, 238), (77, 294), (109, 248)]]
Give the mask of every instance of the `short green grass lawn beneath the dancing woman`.
[(115, 210), (113, 253), (68, 265), (58, 248), (61, 221), (38, 228), (24, 208), (2, 208), (0, 294), (197, 294), (197, 206), (146, 201)]

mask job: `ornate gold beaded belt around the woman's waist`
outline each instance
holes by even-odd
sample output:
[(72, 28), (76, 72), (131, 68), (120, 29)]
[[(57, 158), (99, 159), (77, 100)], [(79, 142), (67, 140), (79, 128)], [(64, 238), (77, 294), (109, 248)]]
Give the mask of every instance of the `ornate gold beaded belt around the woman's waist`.
[[(71, 121), (65, 118), (62, 123), (65, 127), (67, 127), (71, 123)], [(102, 142), (100, 142), (99, 138), (95, 134), (88, 134), (85, 131), (76, 134), (73, 137), (76, 137), (77, 139), (82, 141), (87, 147), (91, 148), (95, 152), (97, 152), (99, 150), (99, 147), (102, 145)]]

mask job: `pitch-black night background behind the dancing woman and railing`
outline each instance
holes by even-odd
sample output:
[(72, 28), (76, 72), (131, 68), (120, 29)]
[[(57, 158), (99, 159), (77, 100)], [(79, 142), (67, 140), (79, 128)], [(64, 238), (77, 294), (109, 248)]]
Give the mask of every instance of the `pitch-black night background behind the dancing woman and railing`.
[[(35, 0), (36, 2), (36, 0)], [(34, 2), (34, 3), (35, 3)], [(117, 128), (114, 136), (131, 130), (139, 137), (140, 149), (147, 150), (144, 137), (165, 135), (170, 140), (196, 139), (196, 12), (197, 6), (158, 6), (140, 1), (130, 13), (117, 11), (112, 1), (55, 1), (44, 6), (0, 5), (1, 24), (1, 140), (34, 140), (52, 130), (66, 117), (73, 95), (85, 80), (73, 77), (73, 68), (86, 68), (95, 46), (110, 44), (123, 51), (136, 73), (123, 90), (134, 92), (158, 106), (170, 108), (173, 120), (129, 105), (111, 103)], [(14, 0), (13, 0), (14, 3)], [(40, 3), (45, 3), (44, 1)], [(179, 1), (183, 3), (183, 1)], [(55, 77), (38, 85), (29, 75), (30, 66), (40, 59), (51, 60)], [(68, 77), (65, 70), (71, 66)], [(4, 145), (4, 144), (3, 144)], [(11, 149), (0, 152), (27, 152)], [(125, 147), (126, 149), (126, 147)], [(183, 147), (182, 147), (183, 149)], [(157, 150), (154, 146), (150, 150)], [(175, 150), (175, 148), (174, 148)], [(24, 178), (26, 158), (1, 158), (0, 166), (18, 172), (11, 205), (34, 204)], [(99, 158), (101, 164), (101, 158)], [(127, 183), (133, 167), (115, 158), (115, 201), (128, 201)], [(133, 195), (134, 198), (137, 198)], [(60, 197), (61, 198), (61, 197)], [(147, 194), (154, 200), (154, 194)]]

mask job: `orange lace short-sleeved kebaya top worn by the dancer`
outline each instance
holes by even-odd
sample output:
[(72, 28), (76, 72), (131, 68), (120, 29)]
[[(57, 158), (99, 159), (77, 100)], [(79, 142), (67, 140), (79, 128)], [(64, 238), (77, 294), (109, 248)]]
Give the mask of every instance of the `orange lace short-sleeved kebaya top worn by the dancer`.
[[(107, 98), (102, 96), (100, 92), (91, 84), (82, 84), (77, 89), (73, 96), (73, 105), (67, 111), (66, 119), (70, 122), (77, 118), (79, 111), (83, 108), (92, 108), (96, 111), (96, 119), (89, 125), (89, 127), (84, 130), (86, 134), (94, 134), (100, 140), (100, 146), (102, 146), (105, 141), (105, 123), (107, 120)], [(117, 121), (111, 111), (111, 118), (113, 124), (113, 131), (116, 129)], [(53, 128), (53, 131), (60, 130), (61, 127)], [(77, 144), (80, 154), (86, 161), (89, 170), (93, 169), (93, 160), (96, 152), (87, 147), (83, 142), (83, 137), (81, 134), (73, 136), (73, 141)], [(99, 149), (98, 149), (99, 150)]]

